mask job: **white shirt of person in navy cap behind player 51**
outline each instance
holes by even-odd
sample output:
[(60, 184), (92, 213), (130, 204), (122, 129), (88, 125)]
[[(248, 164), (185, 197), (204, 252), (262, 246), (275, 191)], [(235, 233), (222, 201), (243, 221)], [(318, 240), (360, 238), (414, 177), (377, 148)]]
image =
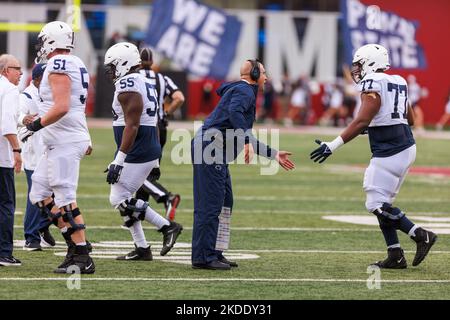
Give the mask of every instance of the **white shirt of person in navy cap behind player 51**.
[[(34, 86), (33, 82), (31, 82), (20, 95), (19, 126), (23, 125), (23, 118), (25, 116), (39, 113), (39, 103), (39, 90)], [(27, 170), (34, 170), (44, 153), (44, 149), (42, 143), (42, 130), (37, 131), (22, 144), (23, 167)]]

